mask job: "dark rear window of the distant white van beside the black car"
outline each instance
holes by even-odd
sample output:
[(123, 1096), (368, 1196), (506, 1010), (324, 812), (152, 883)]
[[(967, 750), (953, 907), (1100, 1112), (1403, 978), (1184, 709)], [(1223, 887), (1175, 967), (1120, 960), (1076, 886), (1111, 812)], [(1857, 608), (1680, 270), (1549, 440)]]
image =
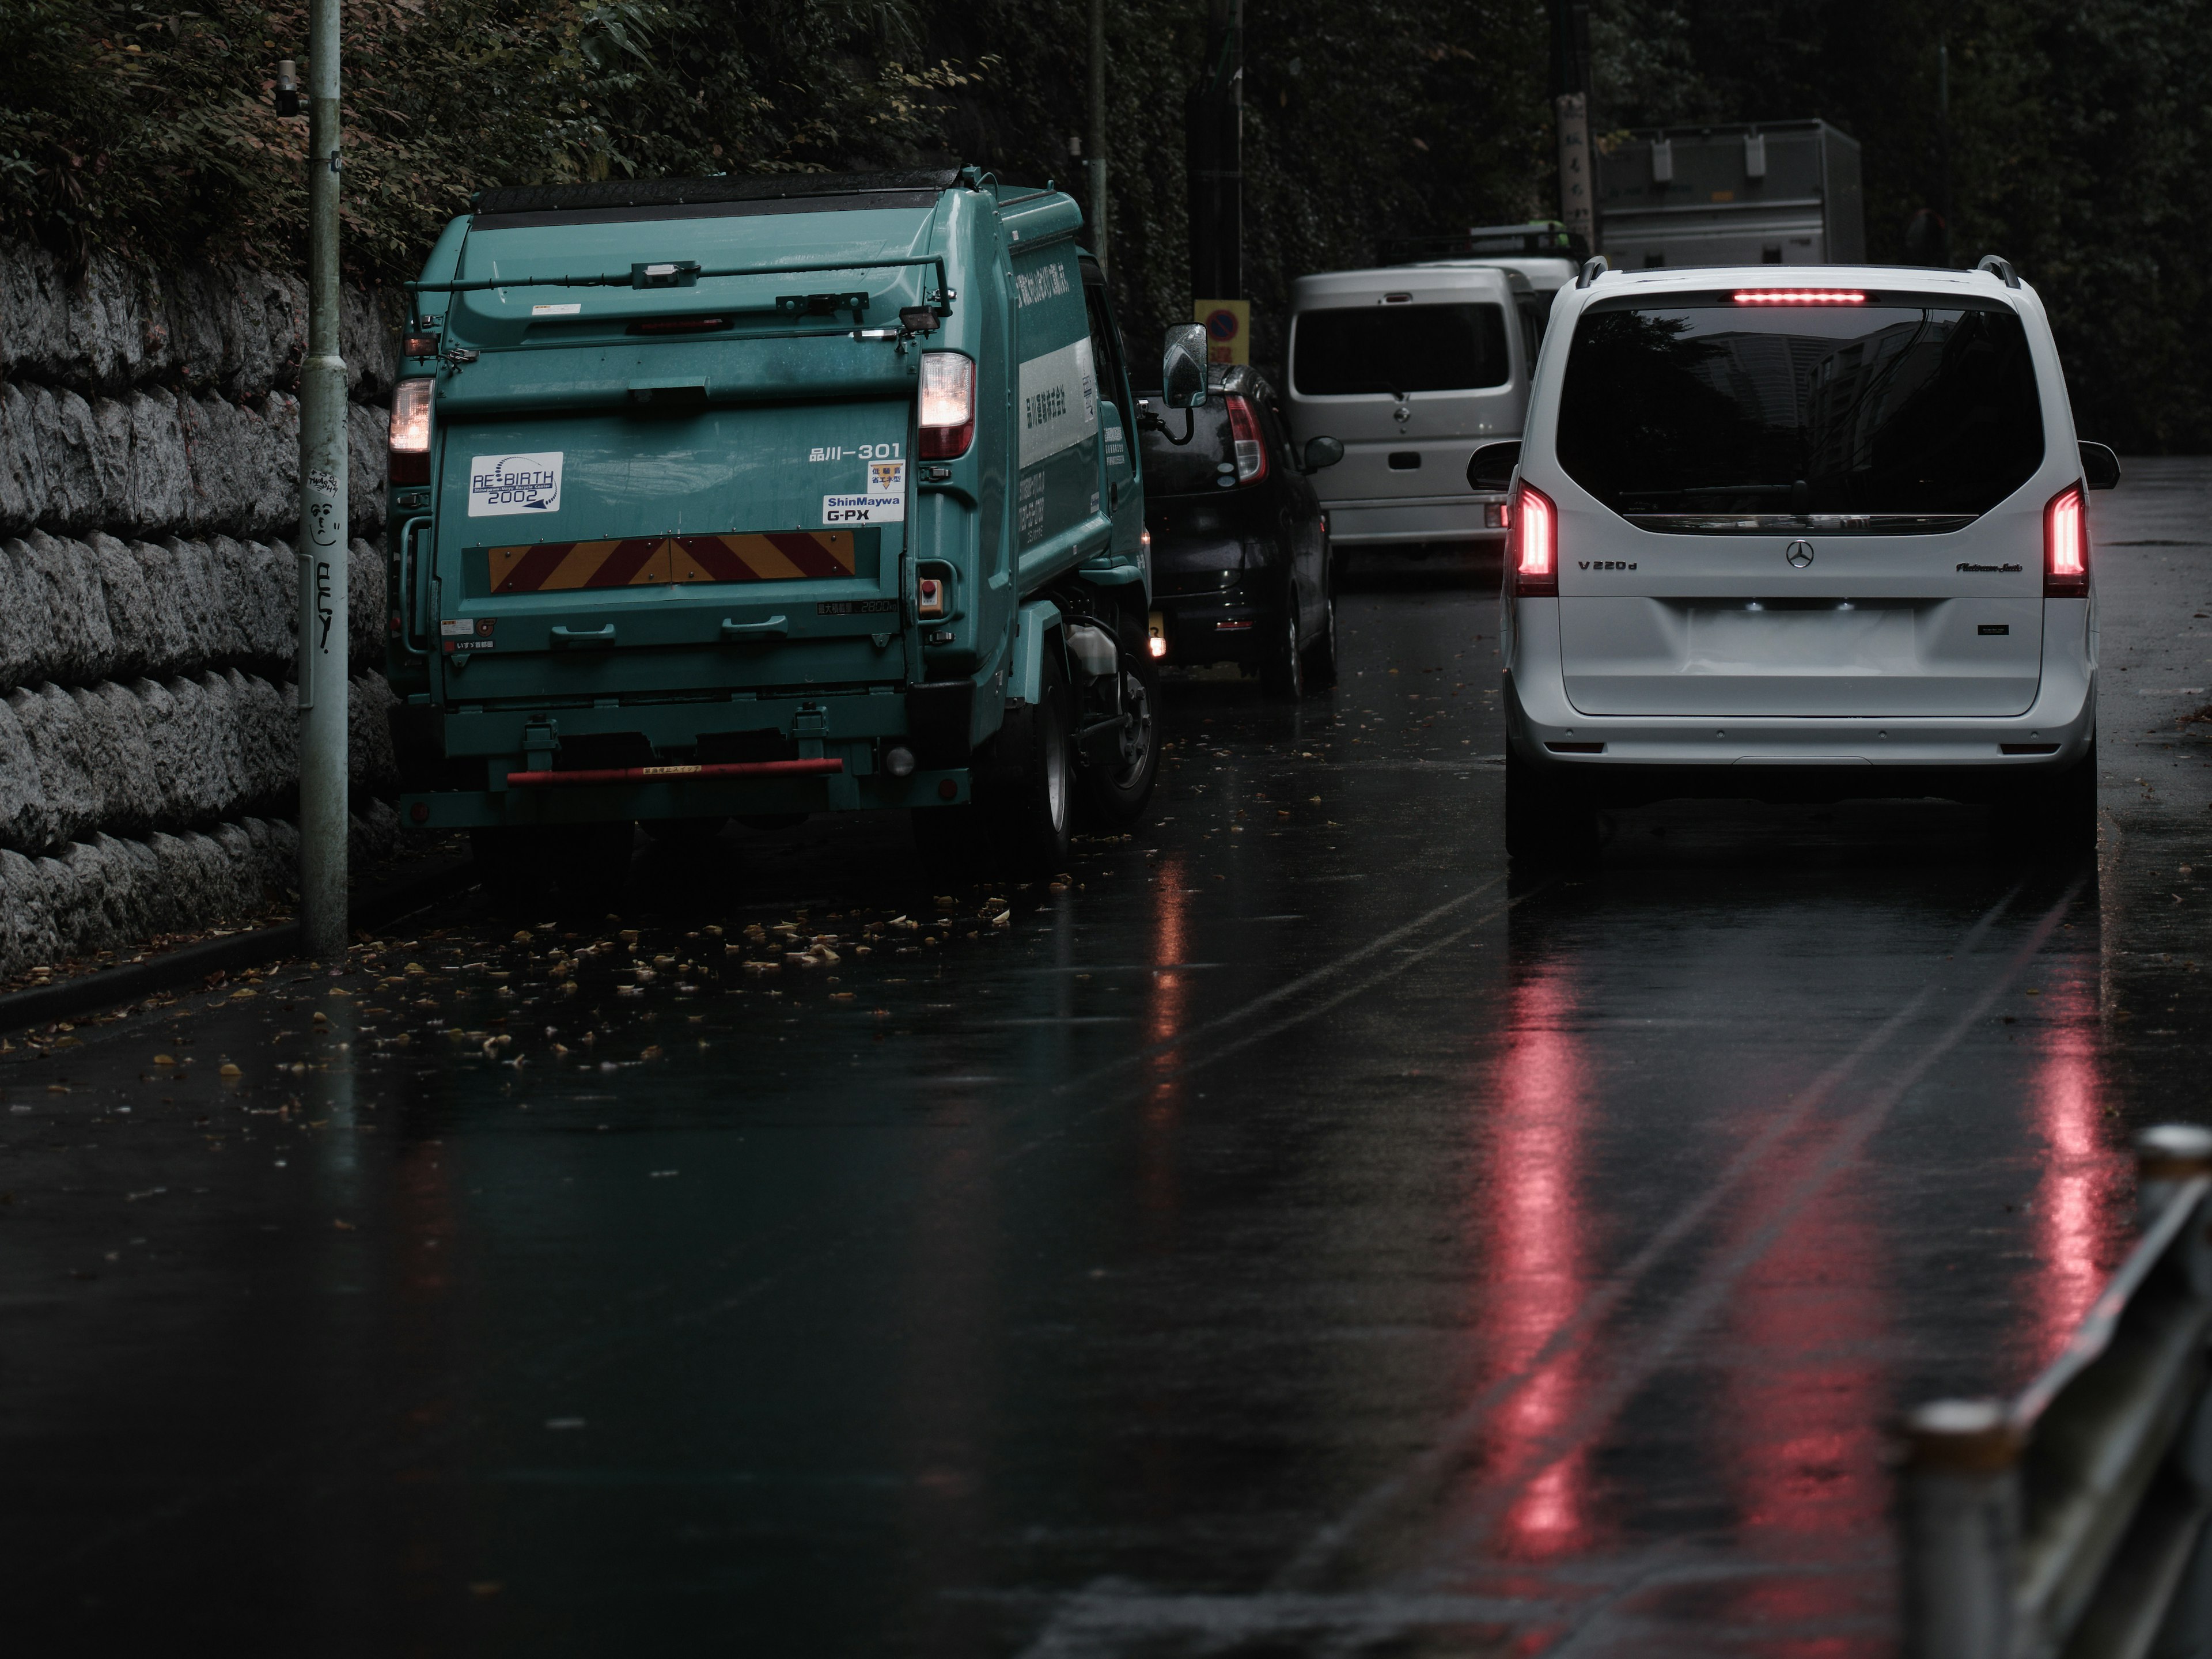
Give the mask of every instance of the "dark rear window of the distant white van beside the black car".
[(1511, 372), (1502, 305), (1298, 312), (1290, 336), (1290, 383), (1307, 398), (1473, 392)]

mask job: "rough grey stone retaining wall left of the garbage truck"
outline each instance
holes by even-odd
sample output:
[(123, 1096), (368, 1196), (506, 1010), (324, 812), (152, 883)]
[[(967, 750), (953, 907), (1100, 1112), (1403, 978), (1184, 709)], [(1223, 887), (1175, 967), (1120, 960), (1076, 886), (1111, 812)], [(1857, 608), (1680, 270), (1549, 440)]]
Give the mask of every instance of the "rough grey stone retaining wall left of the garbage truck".
[[(398, 818), (385, 710), (394, 341), (345, 294), (356, 858)], [(0, 978), (290, 894), (305, 283), (0, 246)]]

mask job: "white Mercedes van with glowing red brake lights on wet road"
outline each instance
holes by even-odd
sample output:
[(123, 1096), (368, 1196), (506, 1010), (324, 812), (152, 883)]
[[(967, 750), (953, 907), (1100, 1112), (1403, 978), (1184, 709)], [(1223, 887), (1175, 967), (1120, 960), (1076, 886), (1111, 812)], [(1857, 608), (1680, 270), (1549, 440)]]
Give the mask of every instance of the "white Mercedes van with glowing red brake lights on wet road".
[(1506, 845), (1666, 796), (2011, 801), (2095, 845), (2088, 495), (2035, 290), (1982, 270), (1562, 290), (1504, 580)]

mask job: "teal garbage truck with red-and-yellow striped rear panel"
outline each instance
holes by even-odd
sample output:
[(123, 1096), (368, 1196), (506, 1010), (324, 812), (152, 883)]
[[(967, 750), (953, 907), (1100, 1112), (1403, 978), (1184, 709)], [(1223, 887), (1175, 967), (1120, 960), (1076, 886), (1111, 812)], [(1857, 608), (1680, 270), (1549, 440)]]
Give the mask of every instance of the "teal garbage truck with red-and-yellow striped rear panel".
[(639, 823), (894, 807), (1009, 874), (1135, 823), (1137, 403), (1079, 223), (975, 168), (478, 195), (392, 409), (403, 818), (529, 883)]

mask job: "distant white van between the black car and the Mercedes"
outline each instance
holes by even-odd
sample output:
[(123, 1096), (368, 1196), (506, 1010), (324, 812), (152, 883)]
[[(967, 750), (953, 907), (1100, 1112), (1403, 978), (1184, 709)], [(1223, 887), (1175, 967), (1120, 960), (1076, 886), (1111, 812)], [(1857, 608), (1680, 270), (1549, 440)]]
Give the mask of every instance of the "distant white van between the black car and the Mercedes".
[(1318, 484), (1329, 542), (1504, 542), (1533, 332), (1528, 283), (1489, 265), (1394, 265), (1301, 276), (1290, 290), (1287, 405), (1296, 445), (1336, 438)]

